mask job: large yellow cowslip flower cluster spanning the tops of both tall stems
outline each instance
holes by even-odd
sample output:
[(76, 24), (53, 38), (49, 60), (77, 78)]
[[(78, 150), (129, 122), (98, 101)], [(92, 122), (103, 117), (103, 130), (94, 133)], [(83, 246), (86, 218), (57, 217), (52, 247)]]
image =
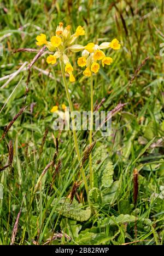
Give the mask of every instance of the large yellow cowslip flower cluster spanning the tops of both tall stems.
[(111, 57), (106, 57), (103, 49), (112, 48), (115, 50), (120, 49), (119, 41), (114, 38), (112, 42), (103, 42), (99, 46), (98, 44), (88, 43), (86, 46), (80, 44), (73, 44), (79, 36), (84, 36), (85, 31), (83, 27), (78, 26), (75, 34), (71, 35), (71, 26), (63, 27), (63, 23), (59, 23), (56, 28), (56, 36), (52, 36), (50, 41), (46, 40), (46, 35), (40, 34), (36, 37), (37, 45), (42, 46), (43, 44), (51, 52), (55, 52), (53, 55), (50, 54), (46, 58), (46, 62), (49, 64), (55, 64), (57, 59), (61, 59), (65, 63), (65, 72), (69, 75), (69, 81), (74, 82), (75, 78), (73, 75), (73, 66), (69, 62), (69, 58), (66, 55), (66, 50), (73, 52), (83, 51), (80, 58), (78, 58), (78, 65), (86, 69), (83, 72), (84, 76), (91, 76), (91, 72), (97, 73), (99, 70), (98, 60), (101, 60), (102, 66), (110, 65), (113, 62)]

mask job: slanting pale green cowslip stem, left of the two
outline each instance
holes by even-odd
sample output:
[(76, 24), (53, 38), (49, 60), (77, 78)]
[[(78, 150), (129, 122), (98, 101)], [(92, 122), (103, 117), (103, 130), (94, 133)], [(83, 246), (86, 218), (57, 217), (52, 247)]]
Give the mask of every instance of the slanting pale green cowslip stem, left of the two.
[[(68, 103), (69, 103), (69, 108), (70, 108), (70, 111), (71, 111), (72, 130), (73, 130), (75, 151), (77, 153), (78, 161), (80, 163), (81, 157), (80, 157), (80, 152), (79, 152), (79, 147), (78, 147), (77, 133), (75, 131), (75, 121), (74, 121), (74, 116), (72, 116), (73, 106), (72, 106), (71, 97), (70, 97), (70, 94), (69, 94), (69, 91), (68, 91), (68, 85), (67, 85), (67, 80), (66, 80), (66, 76), (65, 76), (65, 68), (64, 68), (64, 63), (63, 63), (62, 60), (60, 60), (60, 66), (61, 66), (63, 82), (64, 82), (64, 85), (65, 85), (65, 90), (66, 90), (66, 94), (67, 94), (67, 99), (68, 99)], [(84, 169), (83, 169), (83, 166), (82, 166), (81, 163), (80, 163), (80, 171), (81, 171), (81, 175), (83, 177), (86, 194), (88, 195), (87, 180), (86, 180), (85, 172), (84, 172)]]

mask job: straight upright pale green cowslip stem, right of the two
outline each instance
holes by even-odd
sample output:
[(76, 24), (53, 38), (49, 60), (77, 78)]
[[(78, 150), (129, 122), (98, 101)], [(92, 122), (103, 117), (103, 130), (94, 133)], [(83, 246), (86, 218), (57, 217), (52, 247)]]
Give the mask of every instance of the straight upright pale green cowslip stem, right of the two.
[[(92, 144), (92, 130), (93, 130), (93, 75), (91, 72), (91, 120), (90, 120), (90, 135), (89, 135), (90, 146)], [(90, 166), (90, 189), (91, 189), (92, 188), (92, 153), (90, 153), (89, 166)]]

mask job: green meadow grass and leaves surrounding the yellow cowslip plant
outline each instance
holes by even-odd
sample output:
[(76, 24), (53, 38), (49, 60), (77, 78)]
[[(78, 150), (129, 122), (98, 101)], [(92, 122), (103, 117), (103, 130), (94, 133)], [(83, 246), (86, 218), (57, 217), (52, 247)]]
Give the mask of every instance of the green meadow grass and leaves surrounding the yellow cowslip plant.
[[(89, 209), (83, 182), (71, 206), (66, 199), (74, 182), (81, 181), (72, 132), (60, 134), (52, 130), (50, 109), (53, 105), (60, 109), (61, 104), (68, 105), (60, 65), (48, 65), (46, 55), (38, 59), (31, 70), (27, 93), (26, 70), (4, 88), (1, 86), (8, 79), (0, 79), (0, 137), (20, 109), (28, 105), (0, 143), (0, 167), (9, 163), (9, 141), (14, 145), (13, 164), (0, 172), (0, 244), (11, 243), (20, 209), (15, 244), (135, 244), (136, 240), (137, 244), (163, 244), (164, 57), (160, 56), (160, 43), (164, 40), (163, 8), (160, 0), (1, 1), (1, 78), (14, 73), (25, 61), (30, 63), (36, 54), (13, 54), (14, 49), (38, 49), (36, 36), (40, 33), (48, 37), (54, 35), (57, 24), (62, 21), (71, 25), (72, 32), (78, 25), (84, 26), (86, 35), (79, 38), (80, 44), (118, 38), (121, 49), (107, 51), (114, 59), (113, 64), (101, 68), (94, 76), (94, 102), (106, 98), (101, 110), (112, 110), (119, 102), (128, 104), (114, 115), (111, 136), (102, 137), (97, 132), (93, 137), (96, 141), (92, 151), (95, 175), (97, 172), (101, 179), (106, 170), (109, 174), (106, 179), (110, 179), (107, 194), (103, 185), (97, 185), (90, 198), (95, 214), (83, 220)], [(77, 65), (80, 53), (69, 55), (76, 78), (69, 84), (74, 108), (89, 110), (90, 84)], [(140, 66), (147, 57), (149, 59)], [(130, 84), (138, 66), (140, 71)], [(48, 72), (44, 74), (43, 70)], [(78, 132), (81, 155), (89, 144), (88, 136), (87, 131)], [(54, 154), (55, 166), (46, 171), (35, 191), (40, 174)], [(60, 168), (54, 177), (56, 166)], [(88, 160), (84, 168), (88, 175)], [(139, 172), (136, 209), (133, 203), (135, 168)], [(46, 240), (48, 238), (50, 241)]]

